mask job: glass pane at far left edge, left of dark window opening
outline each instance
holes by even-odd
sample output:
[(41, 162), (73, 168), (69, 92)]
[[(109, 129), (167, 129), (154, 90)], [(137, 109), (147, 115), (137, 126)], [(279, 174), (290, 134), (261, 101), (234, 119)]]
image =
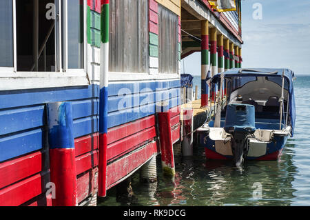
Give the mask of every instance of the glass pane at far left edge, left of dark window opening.
[(0, 67), (13, 66), (12, 0), (0, 1)]

